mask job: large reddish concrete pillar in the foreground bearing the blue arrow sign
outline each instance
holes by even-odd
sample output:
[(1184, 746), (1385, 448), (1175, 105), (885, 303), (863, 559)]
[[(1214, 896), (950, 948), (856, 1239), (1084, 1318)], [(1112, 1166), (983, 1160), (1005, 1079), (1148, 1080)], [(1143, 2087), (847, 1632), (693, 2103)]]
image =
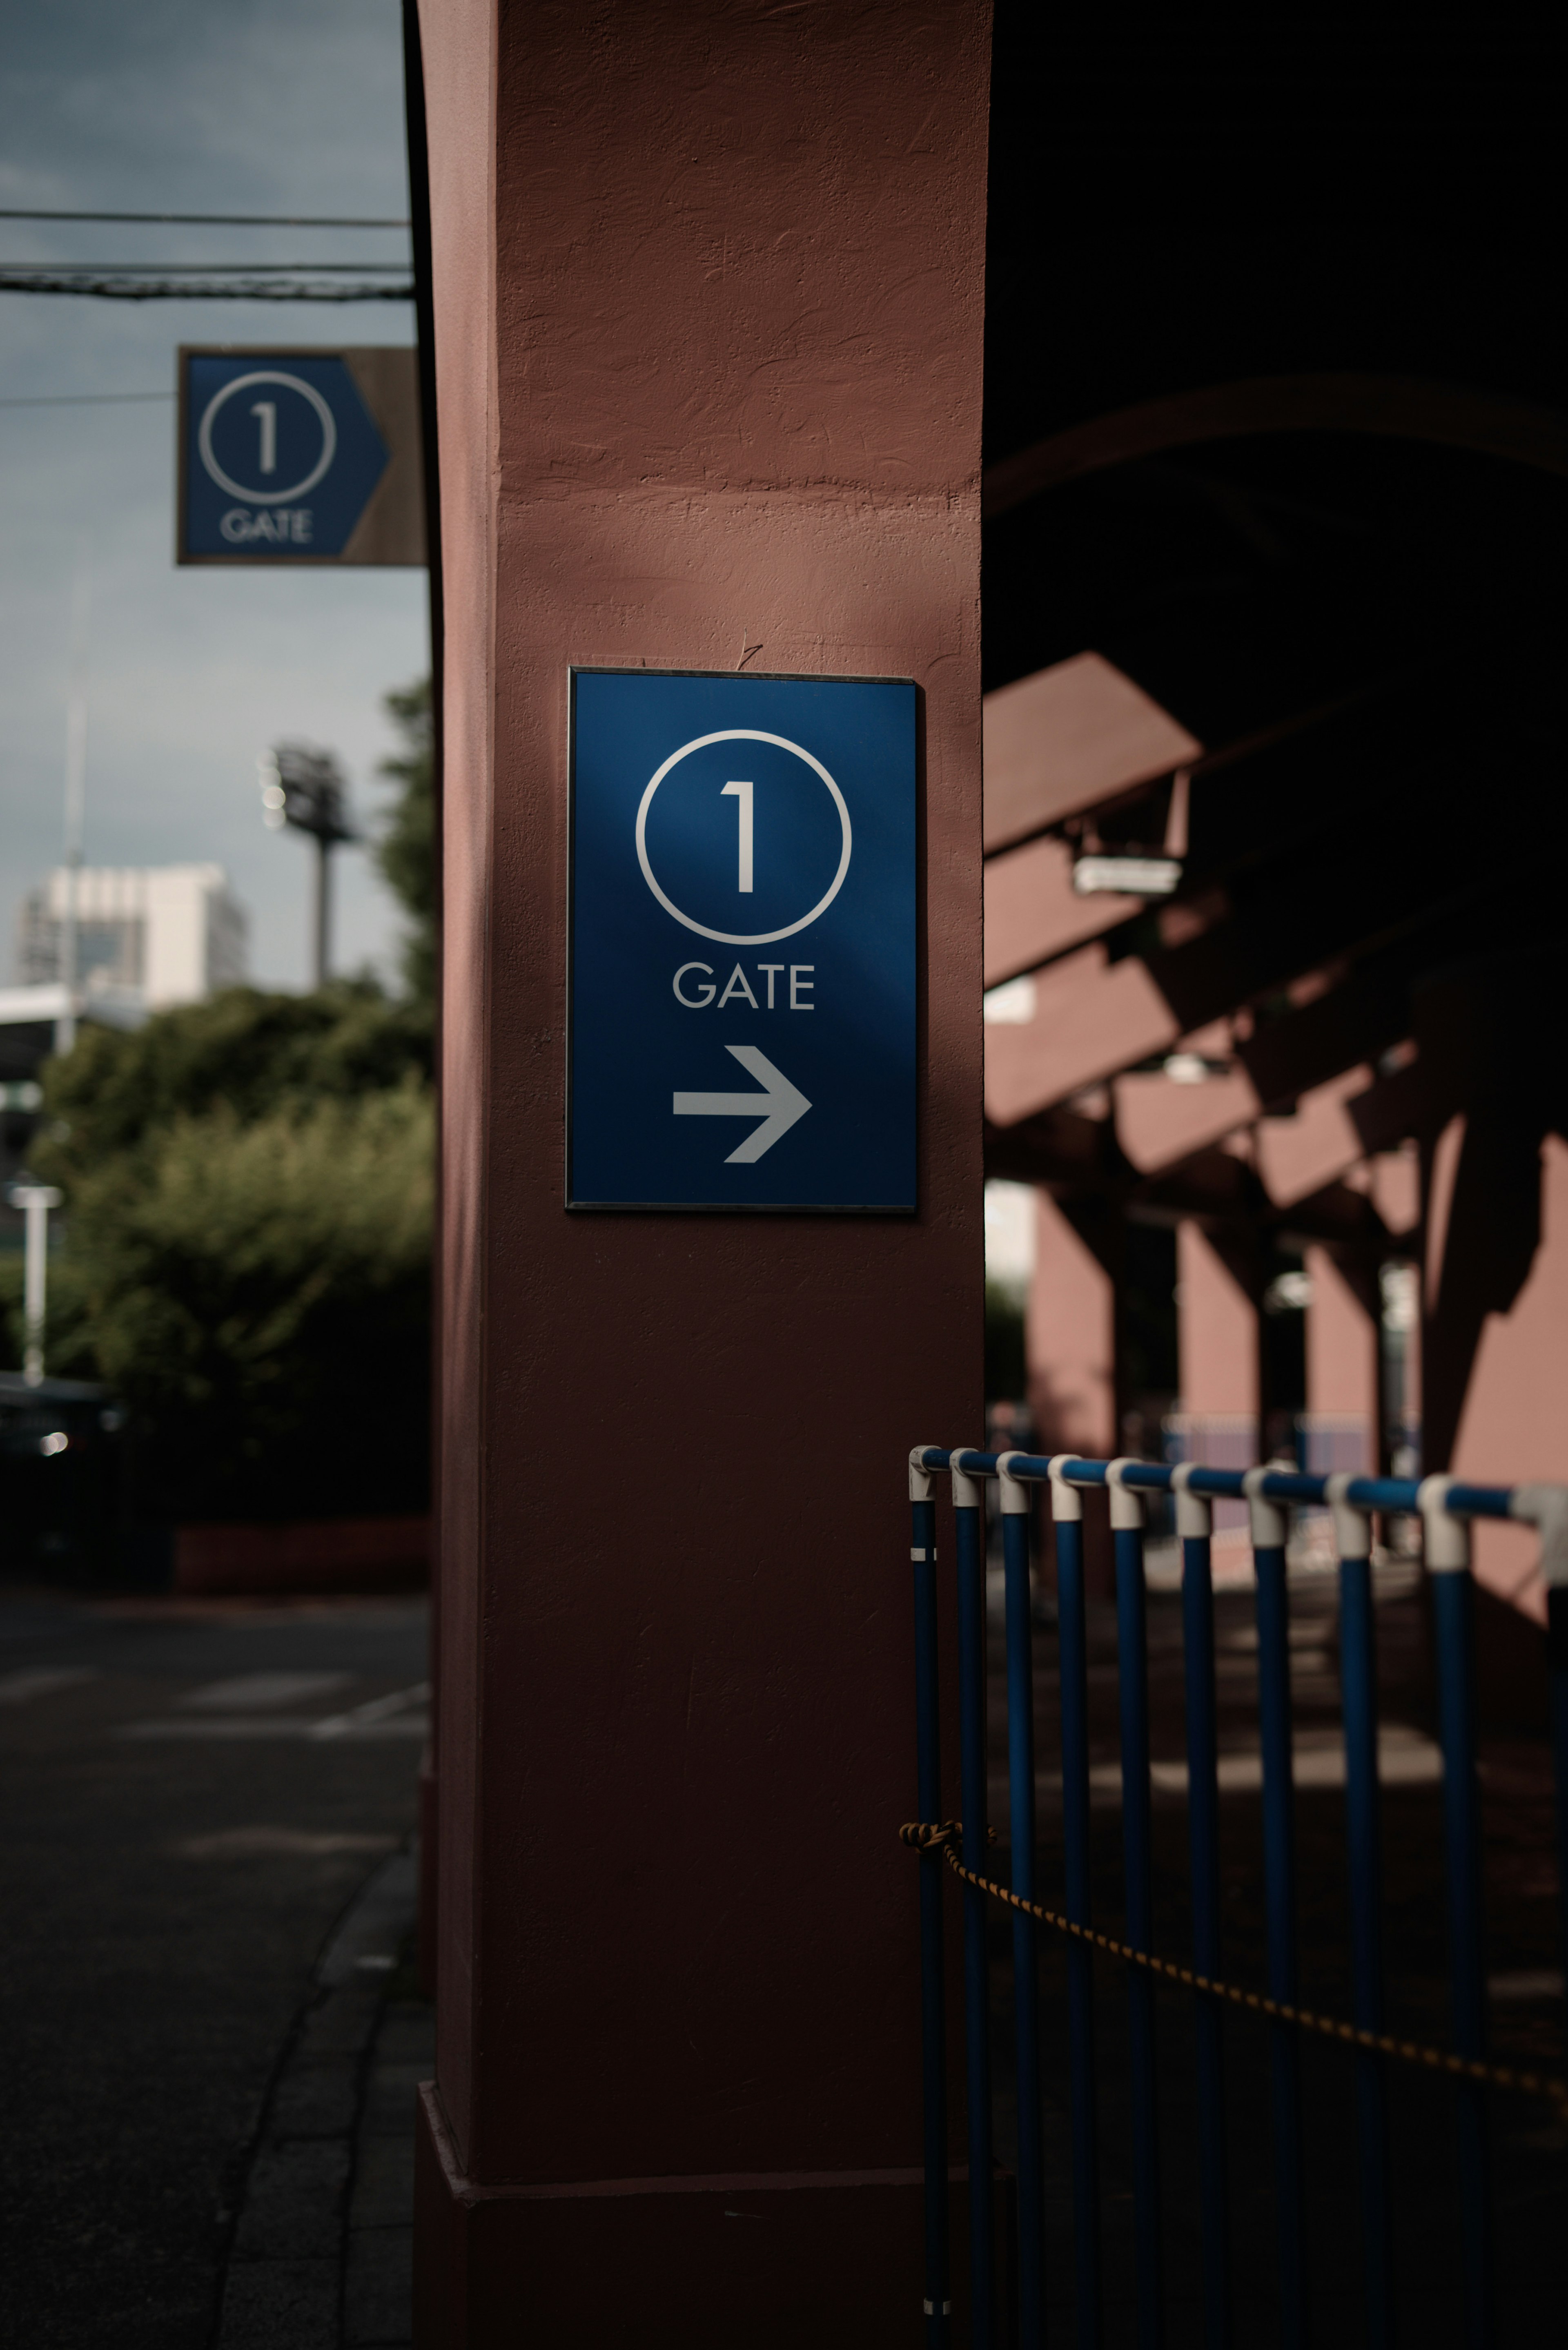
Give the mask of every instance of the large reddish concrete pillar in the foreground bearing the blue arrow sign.
[[(987, 9), (423, 0), (447, 580), (430, 2345), (903, 2343), (903, 1452), (980, 1426)], [(914, 677), (914, 1217), (562, 1208), (567, 667)]]

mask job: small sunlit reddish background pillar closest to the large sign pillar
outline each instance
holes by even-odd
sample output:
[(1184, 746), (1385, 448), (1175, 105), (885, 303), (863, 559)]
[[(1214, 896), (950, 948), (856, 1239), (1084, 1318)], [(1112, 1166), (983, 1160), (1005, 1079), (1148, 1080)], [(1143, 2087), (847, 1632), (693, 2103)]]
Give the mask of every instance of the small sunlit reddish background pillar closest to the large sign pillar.
[(1110, 1271), (1037, 1191), (1034, 1274), (1025, 1309), (1030, 1417), (1041, 1452), (1117, 1452), (1117, 1290)]

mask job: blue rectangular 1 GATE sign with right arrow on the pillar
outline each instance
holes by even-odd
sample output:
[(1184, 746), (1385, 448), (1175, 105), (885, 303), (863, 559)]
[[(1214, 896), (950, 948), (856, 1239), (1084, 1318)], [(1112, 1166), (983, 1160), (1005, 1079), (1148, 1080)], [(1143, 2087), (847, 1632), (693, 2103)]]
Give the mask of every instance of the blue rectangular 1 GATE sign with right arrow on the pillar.
[(571, 672), (569, 1208), (914, 1208), (914, 686)]

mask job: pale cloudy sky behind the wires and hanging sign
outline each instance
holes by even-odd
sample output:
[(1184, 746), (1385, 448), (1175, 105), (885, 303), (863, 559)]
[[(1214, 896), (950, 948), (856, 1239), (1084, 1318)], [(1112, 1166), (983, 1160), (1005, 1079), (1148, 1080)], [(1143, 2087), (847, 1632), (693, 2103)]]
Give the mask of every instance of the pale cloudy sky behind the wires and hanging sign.
[[(407, 214), (397, 0), (0, 0), (0, 207)], [(0, 221), (0, 261), (400, 261), (400, 235)], [(0, 291), (0, 985), (61, 853), (71, 597), (92, 578), (87, 862), (212, 858), (259, 980), (306, 985), (308, 841), (261, 825), (256, 752), (334, 747), (386, 804), (388, 686), (428, 665), (423, 571), (176, 571), (179, 343), (407, 343), (404, 303)], [(390, 968), (397, 912), (339, 858), (339, 968)]]

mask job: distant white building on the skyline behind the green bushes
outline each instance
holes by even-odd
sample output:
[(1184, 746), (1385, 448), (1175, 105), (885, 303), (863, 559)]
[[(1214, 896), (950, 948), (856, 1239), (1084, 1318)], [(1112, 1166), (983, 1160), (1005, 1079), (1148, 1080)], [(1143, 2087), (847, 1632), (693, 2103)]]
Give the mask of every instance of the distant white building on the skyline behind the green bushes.
[[(63, 865), (28, 891), (16, 935), (24, 987), (66, 980)], [(87, 1010), (155, 1013), (200, 1003), (247, 978), (249, 924), (221, 865), (82, 865), (75, 874), (75, 978)]]

